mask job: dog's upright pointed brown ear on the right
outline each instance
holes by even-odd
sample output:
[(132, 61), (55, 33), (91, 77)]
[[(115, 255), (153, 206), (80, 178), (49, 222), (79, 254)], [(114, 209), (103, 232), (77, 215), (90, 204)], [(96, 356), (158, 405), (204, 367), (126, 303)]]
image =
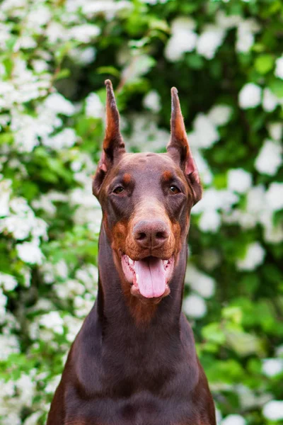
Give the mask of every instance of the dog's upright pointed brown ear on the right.
[(197, 203), (202, 198), (202, 185), (195, 160), (190, 151), (178, 90), (175, 87), (171, 89), (171, 139), (167, 145), (167, 152), (183, 169), (192, 188), (194, 204)]

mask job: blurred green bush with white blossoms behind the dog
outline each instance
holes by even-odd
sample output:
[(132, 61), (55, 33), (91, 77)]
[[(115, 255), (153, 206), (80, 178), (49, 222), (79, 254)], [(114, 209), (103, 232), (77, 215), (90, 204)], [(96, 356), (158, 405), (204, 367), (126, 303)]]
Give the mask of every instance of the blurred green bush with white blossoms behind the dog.
[(218, 424), (283, 423), (281, 0), (0, 5), (0, 424), (45, 424), (96, 299), (91, 193), (112, 79), (128, 150), (163, 152), (177, 86), (204, 185), (183, 310)]

